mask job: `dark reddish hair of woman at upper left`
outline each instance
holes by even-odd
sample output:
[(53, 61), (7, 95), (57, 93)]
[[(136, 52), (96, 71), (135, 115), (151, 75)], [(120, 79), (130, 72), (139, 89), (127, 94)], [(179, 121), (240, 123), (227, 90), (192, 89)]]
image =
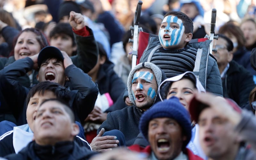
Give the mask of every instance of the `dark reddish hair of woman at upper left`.
[(41, 32), (39, 29), (36, 28), (26, 28), (24, 30), (22, 30), (18, 36), (16, 36), (13, 40), (13, 48), (12, 48), (12, 52), (10, 53), (10, 56), (14, 55), (14, 47), (17, 43), (18, 38), (20, 37), (20, 35), (24, 32), (32, 32), (36, 34), (36, 40), (38, 41), (39, 45), (40, 45), (40, 49), (49, 46), (49, 41), (46, 38), (45, 34), (43, 32)]

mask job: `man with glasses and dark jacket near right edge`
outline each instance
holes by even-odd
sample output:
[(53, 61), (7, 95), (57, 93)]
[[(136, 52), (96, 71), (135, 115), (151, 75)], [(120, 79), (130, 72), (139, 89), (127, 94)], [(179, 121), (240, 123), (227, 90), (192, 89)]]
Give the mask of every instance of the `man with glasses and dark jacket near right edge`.
[[(216, 58), (222, 79), (223, 96), (233, 99), (241, 108), (248, 105), (250, 91), (255, 87), (252, 74), (233, 61), (233, 43), (223, 34), (216, 34), (212, 55)], [(248, 105), (249, 106), (249, 105)]]

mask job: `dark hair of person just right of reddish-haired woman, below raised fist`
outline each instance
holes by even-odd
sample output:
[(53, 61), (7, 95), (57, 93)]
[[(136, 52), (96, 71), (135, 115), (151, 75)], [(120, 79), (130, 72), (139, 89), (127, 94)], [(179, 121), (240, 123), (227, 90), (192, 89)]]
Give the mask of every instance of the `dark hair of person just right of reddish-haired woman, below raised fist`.
[(72, 27), (70, 24), (68, 23), (58, 23), (50, 32), (50, 39), (55, 36), (56, 34), (66, 34), (69, 37), (72, 38), (72, 46), (76, 46), (76, 41), (75, 41), (75, 37), (72, 31)]

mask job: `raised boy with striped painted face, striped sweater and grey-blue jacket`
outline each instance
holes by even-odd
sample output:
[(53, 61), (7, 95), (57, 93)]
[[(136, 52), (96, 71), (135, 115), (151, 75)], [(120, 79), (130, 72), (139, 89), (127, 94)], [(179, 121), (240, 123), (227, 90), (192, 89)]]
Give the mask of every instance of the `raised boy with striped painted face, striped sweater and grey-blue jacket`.
[(159, 40), (156, 37), (149, 38), (149, 44), (140, 58), (140, 62), (156, 64), (164, 71), (167, 78), (186, 71), (194, 71), (206, 91), (222, 96), (217, 62), (209, 54), (209, 48), (205, 47), (209, 46), (210, 41), (206, 41), (204, 44), (188, 45), (192, 39), (192, 33), (193, 22), (186, 14), (179, 11), (166, 13), (159, 29)]

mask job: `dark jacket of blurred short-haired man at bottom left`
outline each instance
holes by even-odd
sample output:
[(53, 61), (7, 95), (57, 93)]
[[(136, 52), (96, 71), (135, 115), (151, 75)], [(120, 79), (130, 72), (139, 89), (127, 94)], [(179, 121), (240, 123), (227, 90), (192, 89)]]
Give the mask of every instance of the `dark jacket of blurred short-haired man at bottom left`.
[(76, 142), (58, 142), (54, 146), (40, 146), (35, 141), (28, 143), (18, 154), (7, 155), (9, 160), (87, 160), (97, 154), (86, 147), (79, 146)]

